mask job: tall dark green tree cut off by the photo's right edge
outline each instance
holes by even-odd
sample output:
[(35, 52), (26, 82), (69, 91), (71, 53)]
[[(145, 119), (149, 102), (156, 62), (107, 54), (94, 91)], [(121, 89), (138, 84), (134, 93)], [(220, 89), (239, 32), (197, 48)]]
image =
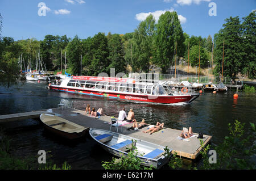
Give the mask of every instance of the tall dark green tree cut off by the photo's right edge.
[(247, 74), (249, 78), (256, 78), (256, 11), (254, 10), (248, 16), (243, 18), (243, 58), (242, 73)]

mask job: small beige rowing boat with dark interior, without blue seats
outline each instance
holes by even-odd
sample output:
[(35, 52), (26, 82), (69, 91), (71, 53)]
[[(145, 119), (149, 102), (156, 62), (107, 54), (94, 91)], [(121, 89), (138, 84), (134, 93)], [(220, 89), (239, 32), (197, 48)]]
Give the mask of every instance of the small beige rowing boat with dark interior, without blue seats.
[(86, 134), (86, 128), (81, 125), (72, 123), (62, 117), (42, 113), (40, 115), (44, 128), (48, 131), (57, 134), (58, 136), (73, 140), (82, 137)]

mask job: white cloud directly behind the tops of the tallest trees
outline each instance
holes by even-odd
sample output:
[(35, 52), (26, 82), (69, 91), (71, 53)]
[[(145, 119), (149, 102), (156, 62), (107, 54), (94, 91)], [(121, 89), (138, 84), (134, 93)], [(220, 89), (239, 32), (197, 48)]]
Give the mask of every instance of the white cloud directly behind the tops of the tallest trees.
[[(170, 9), (170, 10), (158, 10), (158, 11), (154, 11), (154, 12), (141, 12), (139, 14), (136, 14), (135, 18), (139, 21), (143, 21), (147, 18), (148, 15), (152, 14), (156, 20), (156, 22), (158, 22), (160, 15), (164, 14), (164, 12), (166, 11), (174, 11), (174, 9)], [(180, 20), (180, 23), (183, 24), (185, 22), (187, 22), (187, 18), (185, 18), (182, 15), (178, 15), (178, 18)]]

